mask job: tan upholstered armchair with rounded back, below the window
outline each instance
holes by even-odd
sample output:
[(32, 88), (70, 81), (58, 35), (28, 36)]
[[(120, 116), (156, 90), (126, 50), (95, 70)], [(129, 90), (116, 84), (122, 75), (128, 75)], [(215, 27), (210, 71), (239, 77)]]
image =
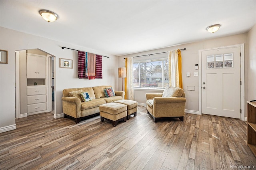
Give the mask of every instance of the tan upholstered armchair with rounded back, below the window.
[(157, 122), (172, 117), (184, 120), (185, 93), (178, 87), (166, 87), (163, 93), (146, 93), (146, 109)]

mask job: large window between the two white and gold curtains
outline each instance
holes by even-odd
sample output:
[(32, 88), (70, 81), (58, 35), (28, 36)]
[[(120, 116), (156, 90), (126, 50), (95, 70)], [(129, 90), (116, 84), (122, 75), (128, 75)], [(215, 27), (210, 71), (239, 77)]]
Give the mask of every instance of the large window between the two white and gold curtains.
[(134, 61), (133, 76), (135, 88), (165, 88), (168, 81), (168, 58)]

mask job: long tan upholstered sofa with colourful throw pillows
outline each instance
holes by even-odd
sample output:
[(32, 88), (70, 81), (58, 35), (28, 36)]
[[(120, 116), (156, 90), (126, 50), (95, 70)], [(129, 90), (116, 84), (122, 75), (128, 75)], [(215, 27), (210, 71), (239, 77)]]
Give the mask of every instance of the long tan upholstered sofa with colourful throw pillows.
[[(64, 117), (72, 117), (76, 123), (79, 123), (83, 118), (98, 115), (100, 113), (100, 105), (124, 99), (124, 91), (114, 91), (115, 96), (105, 97), (104, 89), (110, 87), (112, 86), (64, 89), (62, 91)], [(83, 102), (78, 91), (87, 92), (92, 100)]]

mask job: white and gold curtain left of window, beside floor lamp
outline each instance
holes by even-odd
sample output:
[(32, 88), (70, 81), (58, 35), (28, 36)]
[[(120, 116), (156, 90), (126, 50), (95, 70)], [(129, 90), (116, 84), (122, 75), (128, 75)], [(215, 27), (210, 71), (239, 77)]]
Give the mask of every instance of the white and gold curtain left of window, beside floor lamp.
[(134, 100), (134, 89), (133, 89), (133, 57), (125, 59), (126, 67), (126, 78), (124, 79), (124, 91), (125, 98), (128, 100)]

